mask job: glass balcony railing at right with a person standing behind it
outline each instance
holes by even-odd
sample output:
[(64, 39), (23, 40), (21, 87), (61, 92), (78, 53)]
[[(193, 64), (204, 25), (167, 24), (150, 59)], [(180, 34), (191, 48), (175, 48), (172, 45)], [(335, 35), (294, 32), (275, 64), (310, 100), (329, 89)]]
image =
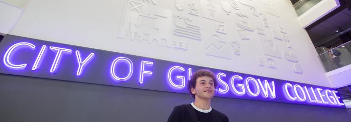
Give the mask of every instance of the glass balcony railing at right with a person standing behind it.
[(320, 55), (326, 72), (351, 64), (351, 41), (332, 48)]

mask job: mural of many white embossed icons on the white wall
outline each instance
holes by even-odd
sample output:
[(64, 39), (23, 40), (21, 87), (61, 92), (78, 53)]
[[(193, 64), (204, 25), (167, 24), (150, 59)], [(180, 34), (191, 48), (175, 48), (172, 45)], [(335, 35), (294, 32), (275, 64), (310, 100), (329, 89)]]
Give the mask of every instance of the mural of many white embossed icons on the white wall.
[[(184, 53), (202, 46), (206, 57), (253, 57), (257, 67), (279, 70), (282, 62), (291, 67), (289, 72), (304, 73), (291, 46), (294, 40), (271, 0), (168, 1), (173, 1), (168, 2), (170, 8), (159, 5), (159, 0), (126, 0), (118, 38)], [(248, 50), (252, 52), (243, 52)]]

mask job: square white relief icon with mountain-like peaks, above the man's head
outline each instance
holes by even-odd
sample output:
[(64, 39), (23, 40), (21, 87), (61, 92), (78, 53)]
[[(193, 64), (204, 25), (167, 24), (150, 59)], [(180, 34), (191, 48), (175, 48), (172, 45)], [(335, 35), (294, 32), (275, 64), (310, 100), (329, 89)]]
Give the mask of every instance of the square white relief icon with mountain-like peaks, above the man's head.
[(219, 36), (212, 35), (208, 40), (209, 46), (206, 47), (206, 54), (218, 58), (231, 59), (230, 46)]

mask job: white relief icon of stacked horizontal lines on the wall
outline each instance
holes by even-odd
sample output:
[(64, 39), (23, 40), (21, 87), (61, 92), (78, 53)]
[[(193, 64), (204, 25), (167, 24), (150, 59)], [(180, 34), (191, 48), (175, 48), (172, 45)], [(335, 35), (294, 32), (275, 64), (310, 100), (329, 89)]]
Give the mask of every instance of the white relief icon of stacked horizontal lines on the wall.
[(183, 36), (195, 40), (201, 40), (200, 27), (195, 25), (195, 22), (186, 17), (181, 17), (178, 15), (174, 16), (175, 28), (174, 34), (178, 36)]

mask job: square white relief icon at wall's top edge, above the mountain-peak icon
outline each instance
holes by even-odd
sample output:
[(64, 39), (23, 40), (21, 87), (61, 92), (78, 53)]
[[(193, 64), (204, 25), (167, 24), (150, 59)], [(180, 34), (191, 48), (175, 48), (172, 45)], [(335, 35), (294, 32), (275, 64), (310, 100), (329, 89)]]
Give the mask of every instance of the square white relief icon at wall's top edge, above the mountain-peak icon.
[(200, 0), (201, 16), (206, 19), (215, 20), (223, 23), (221, 17), (221, 8), (219, 5), (212, 3), (211, 0)]

